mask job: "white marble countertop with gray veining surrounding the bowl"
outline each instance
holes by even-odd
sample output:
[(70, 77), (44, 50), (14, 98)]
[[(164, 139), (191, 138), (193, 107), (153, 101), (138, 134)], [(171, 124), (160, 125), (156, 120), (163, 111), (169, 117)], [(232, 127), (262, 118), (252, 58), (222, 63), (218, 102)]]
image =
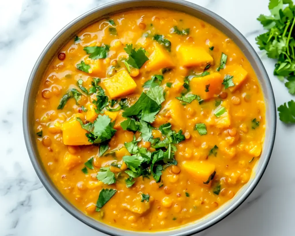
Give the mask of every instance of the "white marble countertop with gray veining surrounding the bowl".
[[(15, 0), (0, 7), (0, 236), (103, 235), (68, 214), (47, 193), (30, 162), (22, 131), (22, 103), (32, 67), (50, 39), (84, 12), (109, 0)], [(255, 47), (263, 32), (256, 20), (268, 0), (191, 0), (233, 24)], [(276, 104), (291, 95), (273, 76), (275, 62), (261, 56)], [(294, 99), (294, 98), (293, 98)], [(198, 235), (294, 235), (295, 126), (278, 120), (275, 146), (265, 174), (230, 216)]]

